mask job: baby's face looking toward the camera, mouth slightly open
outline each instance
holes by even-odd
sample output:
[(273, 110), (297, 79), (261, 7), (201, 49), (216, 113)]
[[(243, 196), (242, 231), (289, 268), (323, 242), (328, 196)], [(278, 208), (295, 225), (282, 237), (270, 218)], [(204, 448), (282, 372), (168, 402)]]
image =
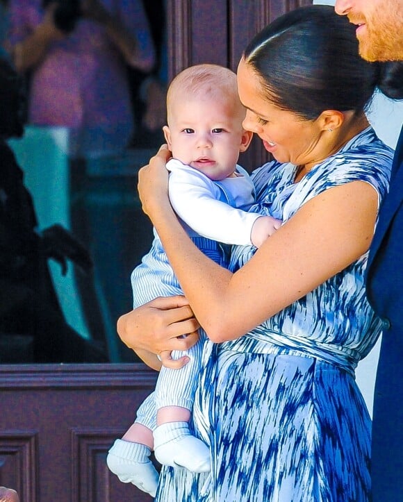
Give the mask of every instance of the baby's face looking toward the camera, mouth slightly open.
[(164, 128), (172, 156), (194, 167), (211, 180), (233, 173), (245, 131), (239, 109), (223, 99), (197, 96), (177, 100), (170, 110), (170, 126)]

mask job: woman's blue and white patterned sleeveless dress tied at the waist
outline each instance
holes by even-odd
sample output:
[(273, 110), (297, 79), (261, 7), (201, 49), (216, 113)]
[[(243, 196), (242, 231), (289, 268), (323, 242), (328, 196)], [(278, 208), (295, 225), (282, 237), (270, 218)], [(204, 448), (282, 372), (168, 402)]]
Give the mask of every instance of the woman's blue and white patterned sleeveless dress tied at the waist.
[[(286, 221), (313, 196), (356, 180), (380, 203), (392, 156), (367, 128), (299, 183), (294, 165), (270, 162), (254, 173), (252, 210)], [(236, 246), (231, 269), (253, 252)], [(211, 448), (211, 474), (163, 467), (156, 500), (368, 501), (371, 424), (354, 369), (381, 319), (365, 297), (367, 256), (238, 340), (206, 344), (192, 425)]]

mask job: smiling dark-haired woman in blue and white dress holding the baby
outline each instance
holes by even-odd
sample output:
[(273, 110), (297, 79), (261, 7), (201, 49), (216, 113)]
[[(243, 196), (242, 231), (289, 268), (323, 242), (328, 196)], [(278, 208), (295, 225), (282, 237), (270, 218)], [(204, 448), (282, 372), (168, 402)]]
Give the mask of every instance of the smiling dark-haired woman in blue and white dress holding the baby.
[[(143, 208), (190, 307), (159, 300), (122, 317), (120, 335), (153, 367), (151, 353), (186, 333), (172, 319), (197, 327), (189, 308), (210, 339), (193, 413), (211, 474), (164, 468), (159, 501), (369, 499), (370, 417), (354, 368), (382, 326), (363, 287), (393, 153), (364, 114), (380, 75), (329, 6), (289, 12), (250, 42), (238, 66), (244, 127), (275, 159), (254, 172), (254, 210), (284, 223), (256, 253), (235, 247), (230, 270), (176, 219), (167, 152), (140, 171)], [(169, 316), (149, 340), (151, 321)]]

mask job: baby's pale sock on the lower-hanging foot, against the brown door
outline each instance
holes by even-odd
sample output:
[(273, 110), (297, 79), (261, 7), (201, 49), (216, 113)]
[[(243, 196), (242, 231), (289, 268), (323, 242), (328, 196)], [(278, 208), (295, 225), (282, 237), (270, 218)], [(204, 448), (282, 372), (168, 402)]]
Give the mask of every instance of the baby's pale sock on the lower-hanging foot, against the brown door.
[(106, 464), (123, 483), (133, 483), (155, 497), (158, 472), (149, 460), (150, 454), (151, 450), (145, 444), (116, 440), (108, 451)]

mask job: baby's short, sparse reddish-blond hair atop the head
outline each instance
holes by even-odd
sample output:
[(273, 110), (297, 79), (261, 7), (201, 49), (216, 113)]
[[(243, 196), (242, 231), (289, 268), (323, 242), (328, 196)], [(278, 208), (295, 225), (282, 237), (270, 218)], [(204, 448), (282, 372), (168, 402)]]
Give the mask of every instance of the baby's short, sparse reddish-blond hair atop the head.
[(167, 91), (168, 124), (176, 99), (184, 101), (202, 96), (233, 103), (234, 110), (245, 113), (238, 97), (236, 74), (226, 67), (204, 63), (184, 69), (170, 83)]

